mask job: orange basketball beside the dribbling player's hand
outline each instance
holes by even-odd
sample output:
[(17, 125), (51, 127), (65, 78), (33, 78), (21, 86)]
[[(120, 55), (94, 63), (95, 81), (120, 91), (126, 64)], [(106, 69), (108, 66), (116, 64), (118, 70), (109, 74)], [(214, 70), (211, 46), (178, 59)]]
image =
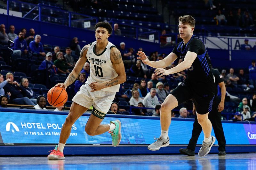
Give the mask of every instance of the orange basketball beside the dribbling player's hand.
[(60, 86), (52, 87), (47, 93), (47, 100), (53, 107), (60, 107), (67, 102), (68, 94)]

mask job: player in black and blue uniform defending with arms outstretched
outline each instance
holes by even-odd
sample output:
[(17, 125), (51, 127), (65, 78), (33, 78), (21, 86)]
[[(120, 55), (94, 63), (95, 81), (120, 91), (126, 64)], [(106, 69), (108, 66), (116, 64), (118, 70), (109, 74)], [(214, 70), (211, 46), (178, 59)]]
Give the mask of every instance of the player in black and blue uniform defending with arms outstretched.
[[(143, 63), (156, 68), (155, 74), (158, 76), (188, 70), (188, 78), (170, 92), (161, 106), (161, 136), (148, 146), (149, 150), (156, 151), (170, 144), (168, 129), (171, 124), (171, 110), (191, 98), (196, 107), (198, 123), (204, 131), (204, 141), (198, 155), (207, 155), (215, 142), (215, 137), (211, 136), (212, 123), (208, 119), (214, 99), (214, 78), (210, 70), (211, 62), (205, 45), (200, 38), (193, 34), (194, 29), (195, 19), (192, 16), (179, 17), (179, 33), (183, 41), (178, 43), (168, 56), (163, 60), (153, 62), (148, 60), (144, 52), (138, 51), (137, 53), (139, 55), (137, 58)], [(178, 57), (182, 60), (180, 64), (169, 70), (164, 69)]]

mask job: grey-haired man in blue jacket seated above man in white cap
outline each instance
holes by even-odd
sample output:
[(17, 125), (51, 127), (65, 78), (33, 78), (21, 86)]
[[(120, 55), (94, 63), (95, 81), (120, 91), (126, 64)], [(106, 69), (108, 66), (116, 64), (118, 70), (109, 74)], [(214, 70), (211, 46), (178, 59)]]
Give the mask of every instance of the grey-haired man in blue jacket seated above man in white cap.
[(43, 61), (44, 56), (46, 54), (43, 49), (43, 44), (40, 41), (41, 41), (41, 36), (37, 34), (35, 40), (29, 43), (29, 49), (33, 53), (33, 55), (38, 56), (38, 59)]

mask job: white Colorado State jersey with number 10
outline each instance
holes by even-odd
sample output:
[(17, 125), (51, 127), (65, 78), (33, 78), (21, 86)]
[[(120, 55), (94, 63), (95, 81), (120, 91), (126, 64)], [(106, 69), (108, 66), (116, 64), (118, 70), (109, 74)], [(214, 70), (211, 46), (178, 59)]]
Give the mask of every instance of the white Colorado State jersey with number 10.
[[(90, 62), (90, 76), (87, 78), (86, 83), (106, 83), (118, 76), (110, 60), (110, 49), (112, 47), (115, 46), (108, 41), (108, 45), (104, 49), (104, 51), (101, 54), (96, 54), (96, 41), (90, 44), (86, 54), (86, 57)], [(101, 90), (108, 92), (118, 92), (119, 88), (120, 84), (110, 86)]]

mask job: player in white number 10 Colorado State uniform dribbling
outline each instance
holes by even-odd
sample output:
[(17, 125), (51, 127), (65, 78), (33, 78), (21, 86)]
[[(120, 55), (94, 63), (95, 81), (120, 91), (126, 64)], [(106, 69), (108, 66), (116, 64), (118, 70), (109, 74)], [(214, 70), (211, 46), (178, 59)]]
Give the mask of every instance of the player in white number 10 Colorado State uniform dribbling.
[(113, 146), (121, 141), (121, 122), (110, 121), (110, 124), (100, 124), (108, 112), (120, 84), (126, 81), (124, 63), (120, 51), (108, 41), (112, 27), (107, 22), (95, 25), (96, 41), (84, 46), (80, 52), (75, 68), (64, 83), (56, 86), (67, 88), (77, 78), (84, 63), (90, 61), (90, 77), (74, 96), (69, 114), (60, 132), (59, 145), (52, 150), (48, 159), (65, 159), (63, 149), (70, 135), (72, 125), (93, 106), (92, 114), (85, 125), (85, 131), (90, 136), (109, 132)]

